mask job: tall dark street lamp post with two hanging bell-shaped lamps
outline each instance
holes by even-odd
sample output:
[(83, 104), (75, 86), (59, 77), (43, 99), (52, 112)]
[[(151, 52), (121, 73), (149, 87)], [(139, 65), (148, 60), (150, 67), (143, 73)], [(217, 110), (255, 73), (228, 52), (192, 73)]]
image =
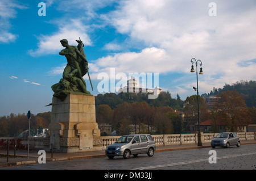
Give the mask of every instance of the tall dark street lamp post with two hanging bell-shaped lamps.
[(199, 115), (199, 93), (198, 93), (198, 76), (197, 76), (197, 64), (200, 65), (200, 72), (199, 74), (204, 74), (203, 73), (203, 68), (202, 68), (202, 61), (201, 60), (196, 60), (195, 58), (191, 59), (191, 72), (195, 72), (194, 66), (193, 64), (196, 64), (196, 85), (197, 85), (197, 118), (198, 118), (198, 142), (197, 142), (197, 146), (202, 146), (202, 140), (201, 140), (201, 131), (200, 131), (200, 115)]

